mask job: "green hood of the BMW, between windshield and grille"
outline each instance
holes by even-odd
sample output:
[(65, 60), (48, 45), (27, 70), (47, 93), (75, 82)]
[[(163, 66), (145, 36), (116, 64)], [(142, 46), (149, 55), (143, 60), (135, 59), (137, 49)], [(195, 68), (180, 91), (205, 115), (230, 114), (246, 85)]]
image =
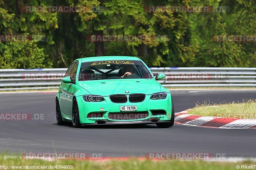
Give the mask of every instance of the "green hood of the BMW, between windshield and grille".
[[(78, 85), (93, 95), (109, 96), (112, 94), (160, 92), (161, 85), (155, 79), (108, 79), (79, 81)], [(129, 91), (129, 93), (125, 93)]]

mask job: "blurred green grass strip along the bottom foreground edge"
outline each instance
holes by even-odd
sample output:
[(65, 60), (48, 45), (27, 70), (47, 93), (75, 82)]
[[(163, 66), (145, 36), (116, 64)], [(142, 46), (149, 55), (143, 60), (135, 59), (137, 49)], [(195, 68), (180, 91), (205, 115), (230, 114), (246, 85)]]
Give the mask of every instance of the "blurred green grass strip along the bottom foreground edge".
[[(212, 161), (203, 161), (203, 160), (192, 160), (192, 161), (183, 161), (183, 160), (138, 160), (130, 159), (126, 161), (117, 161), (117, 160), (106, 160), (106, 161), (79, 161), (79, 160), (27, 160), (20, 158), (6, 158), (0, 156), (0, 165), (3, 166), (55, 166), (55, 165), (72, 165), (72, 170), (91, 170), (91, 169), (102, 169), (102, 170), (141, 170), (141, 169), (152, 169), (152, 170), (227, 170), (227, 169), (236, 169), (236, 165), (255, 165), (255, 162), (252, 161), (243, 161), (243, 162), (212, 162)], [(48, 168), (47, 168), (48, 169)], [(54, 169), (54, 168), (53, 168)]]

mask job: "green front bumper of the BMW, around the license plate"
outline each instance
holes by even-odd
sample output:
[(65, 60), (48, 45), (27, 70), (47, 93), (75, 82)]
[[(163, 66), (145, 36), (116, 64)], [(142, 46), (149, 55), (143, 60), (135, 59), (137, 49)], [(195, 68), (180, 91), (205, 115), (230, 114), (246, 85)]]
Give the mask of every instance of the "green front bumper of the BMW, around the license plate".
[[(158, 122), (166, 122), (171, 120), (172, 115), (172, 98), (171, 94), (167, 93), (166, 99), (152, 100), (151, 95), (146, 95), (142, 102), (131, 103), (129, 100), (126, 103), (113, 103), (109, 96), (104, 96), (104, 101), (101, 102), (86, 102), (82, 96), (77, 96), (77, 104), (79, 110), (79, 117), (81, 124), (99, 124), (99, 121), (105, 121), (104, 124), (150, 124), (151, 119), (157, 119)], [(128, 95), (127, 95), (128, 97)], [(134, 112), (147, 112), (148, 116), (142, 119), (129, 119), (129, 120), (113, 120), (108, 117), (109, 113), (123, 113), (120, 112), (120, 106), (137, 106), (137, 111)], [(165, 115), (152, 115), (152, 110), (164, 110)], [(89, 113), (103, 113), (103, 117), (87, 118)]]

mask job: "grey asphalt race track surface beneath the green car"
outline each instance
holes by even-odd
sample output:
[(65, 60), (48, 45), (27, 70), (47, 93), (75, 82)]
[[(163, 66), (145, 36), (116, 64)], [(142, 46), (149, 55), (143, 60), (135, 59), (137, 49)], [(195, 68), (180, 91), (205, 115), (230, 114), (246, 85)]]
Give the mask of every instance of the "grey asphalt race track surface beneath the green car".
[[(256, 98), (256, 90), (171, 90), (175, 112), (210, 102)], [(0, 113), (44, 114), (44, 120), (1, 120), (0, 151), (15, 153), (102, 153), (103, 157), (146, 153), (225, 153), (256, 157), (256, 129), (214, 129), (174, 124), (98, 125), (83, 129), (59, 126), (54, 93), (0, 93)]]

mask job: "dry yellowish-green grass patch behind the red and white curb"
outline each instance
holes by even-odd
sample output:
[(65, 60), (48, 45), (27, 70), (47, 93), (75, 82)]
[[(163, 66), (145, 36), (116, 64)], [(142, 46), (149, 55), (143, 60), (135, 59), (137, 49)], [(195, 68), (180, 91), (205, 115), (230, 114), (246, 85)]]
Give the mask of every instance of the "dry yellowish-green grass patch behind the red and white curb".
[(191, 115), (201, 116), (216, 116), (216, 117), (227, 117), (227, 118), (240, 118), (240, 119), (256, 119), (256, 100), (248, 99), (237, 103), (221, 103), (215, 104), (207, 103), (204, 101), (203, 104), (196, 103), (196, 107), (188, 111)]

